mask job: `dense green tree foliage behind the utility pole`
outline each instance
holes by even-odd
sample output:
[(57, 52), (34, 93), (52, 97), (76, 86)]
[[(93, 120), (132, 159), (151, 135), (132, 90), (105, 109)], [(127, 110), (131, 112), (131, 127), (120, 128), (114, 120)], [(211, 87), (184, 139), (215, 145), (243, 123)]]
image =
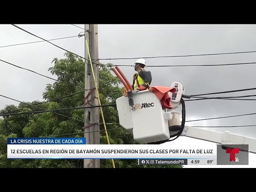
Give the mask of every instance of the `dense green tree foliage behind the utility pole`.
[[(84, 60), (66, 53), (64, 59), (54, 58), (54, 66), (49, 68), (51, 74), (58, 77), (54, 84), (47, 84), (43, 93), (46, 101), (54, 100), (74, 94), (73, 96), (45, 102), (39, 101), (32, 103), (20, 103), (18, 106), (9, 105), (0, 111), (1, 114), (17, 110), (17, 112), (38, 111), (46, 109), (70, 108), (82, 106), (84, 104)], [(73, 85), (75, 86), (73, 86)], [(112, 75), (111, 64), (100, 67), (99, 89), (114, 90), (109, 92), (100, 90), (101, 104), (115, 103), (115, 100), (122, 96), (122, 88), (118, 87), (119, 79)], [(119, 91), (119, 92), (118, 92)], [(29, 105), (30, 104), (30, 105)], [(31, 106), (35, 105), (36, 106)], [(41, 108), (41, 109), (40, 109)], [(118, 112), (115, 106), (103, 107), (103, 114), (107, 129), (122, 128), (118, 124)], [(63, 110), (54, 112), (43, 112), (38, 114), (19, 114), (13, 116), (4, 116), (0, 119), (0, 168), (82, 168), (83, 160), (10, 160), (7, 159), (7, 138), (12, 137), (58, 137), (56, 135), (73, 134), (61, 137), (83, 137), (84, 110)], [(60, 115), (62, 114), (62, 115)], [(68, 117), (72, 118), (68, 118)], [(100, 116), (100, 122), (102, 118)], [(100, 129), (104, 130), (103, 124)], [(131, 134), (124, 130), (109, 130), (108, 136), (110, 144), (136, 144)], [(100, 143), (107, 144), (104, 131), (100, 134)], [(143, 168), (147, 166), (138, 166), (137, 160), (114, 160), (116, 168)], [(102, 168), (112, 168), (111, 160), (100, 160)], [(181, 166), (150, 166), (164, 168), (180, 168)]]

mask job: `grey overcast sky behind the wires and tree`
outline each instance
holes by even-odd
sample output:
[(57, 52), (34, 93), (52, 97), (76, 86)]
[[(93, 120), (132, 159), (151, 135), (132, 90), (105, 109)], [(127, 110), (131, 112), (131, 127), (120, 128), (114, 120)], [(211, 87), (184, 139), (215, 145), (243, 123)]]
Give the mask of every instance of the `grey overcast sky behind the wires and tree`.
[[(83, 30), (66, 25), (23, 25), (19, 27), (47, 40), (76, 36)], [(78, 24), (84, 28), (84, 25)], [(255, 25), (99, 25), (99, 58), (131, 58), (149, 56), (174, 56), (214, 54), (224, 52), (256, 51)], [(12, 25), (0, 25), (0, 46), (40, 41)], [(52, 43), (84, 56), (84, 38), (66, 38)], [(64, 50), (39, 42), (0, 48), (0, 59), (29, 68), (46, 76), (53, 58), (64, 58)], [(134, 64), (136, 60), (102, 60), (118, 65)], [(229, 64), (256, 62), (256, 53), (146, 59), (150, 65)], [(26, 70), (1, 62), (0, 92), (21, 101), (42, 100), (47, 83), (53, 81)], [(244, 88), (254, 88), (255, 64), (236, 66), (159, 67), (152, 72), (152, 85), (170, 86), (178, 81), (185, 94), (203, 94)], [(133, 67), (120, 67), (128, 79)], [(242, 96), (256, 94), (256, 90), (207, 96)], [(255, 97), (251, 97), (255, 98)], [(0, 97), (0, 109), (8, 104), (18, 104)], [(199, 100), (186, 102), (186, 120), (214, 118), (255, 113), (256, 101)], [(256, 115), (188, 122), (188, 126), (241, 126), (256, 125)], [(208, 128), (256, 138), (256, 127)]]

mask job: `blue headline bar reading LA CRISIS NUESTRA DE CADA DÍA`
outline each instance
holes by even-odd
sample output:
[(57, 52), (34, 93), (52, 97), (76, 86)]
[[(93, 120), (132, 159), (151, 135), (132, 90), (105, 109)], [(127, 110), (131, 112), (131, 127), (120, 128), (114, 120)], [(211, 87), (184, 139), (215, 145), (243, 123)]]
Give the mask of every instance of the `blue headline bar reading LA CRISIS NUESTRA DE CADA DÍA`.
[(8, 145), (56, 145), (86, 144), (86, 138), (7, 138)]

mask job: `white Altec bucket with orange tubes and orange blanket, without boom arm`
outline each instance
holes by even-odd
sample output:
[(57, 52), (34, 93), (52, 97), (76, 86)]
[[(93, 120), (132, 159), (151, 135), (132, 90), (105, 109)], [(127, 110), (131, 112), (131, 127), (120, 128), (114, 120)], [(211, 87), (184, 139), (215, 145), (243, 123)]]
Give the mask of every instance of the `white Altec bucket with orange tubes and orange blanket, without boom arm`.
[[(118, 67), (113, 68), (113, 71), (128, 90), (127, 97), (122, 96), (116, 100), (119, 124), (133, 135), (135, 141), (140, 144), (158, 144), (156, 142), (166, 142), (182, 132), (185, 119), (182, 119), (183, 123), (180, 124), (179, 113), (170, 112), (180, 106), (184, 96), (184, 88), (180, 83), (174, 82), (170, 88), (153, 86), (151, 91), (144, 90), (132, 94), (132, 86), (122, 71)], [(167, 92), (163, 93), (161, 90)], [(168, 102), (172, 104), (171, 109), (164, 108), (162, 98), (166, 94), (169, 97)], [(185, 118), (182, 108), (183, 117)]]

